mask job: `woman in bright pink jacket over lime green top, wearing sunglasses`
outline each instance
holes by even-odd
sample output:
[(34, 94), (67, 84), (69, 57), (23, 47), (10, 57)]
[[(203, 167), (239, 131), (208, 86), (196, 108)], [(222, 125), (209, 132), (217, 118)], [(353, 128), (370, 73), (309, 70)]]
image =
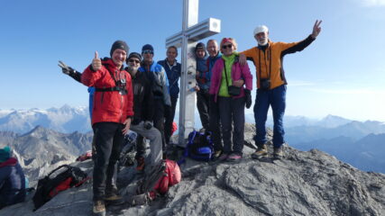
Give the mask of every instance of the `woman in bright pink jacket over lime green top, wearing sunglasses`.
[(215, 62), (209, 90), (212, 100), (219, 105), (222, 124), (224, 152), (219, 160), (237, 161), (242, 158), (243, 151), (244, 106), (250, 108), (252, 105), (252, 74), (247, 64), (239, 64), (234, 39), (224, 38), (220, 48), (223, 56)]

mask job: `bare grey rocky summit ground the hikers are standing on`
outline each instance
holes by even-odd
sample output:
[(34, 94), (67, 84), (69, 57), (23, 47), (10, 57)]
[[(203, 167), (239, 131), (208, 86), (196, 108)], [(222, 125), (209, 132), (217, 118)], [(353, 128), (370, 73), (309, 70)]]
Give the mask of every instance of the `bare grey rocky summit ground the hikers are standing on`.
[[(251, 131), (247, 126), (246, 141)], [(280, 160), (253, 160), (252, 151), (245, 146), (237, 163), (187, 159), (181, 165), (182, 181), (165, 197), (140, 207), (111, 206), (107, 215), (385, 215), (383, 174), (363, 172), (316, 149), (285, 146)], [(91, 161), (74, 165), (92, 173)], [(119, 173), (125, 198), (139, 178), (134, 167)], [(91, 201), (92, 184), (84, 184), (58, 194), (38, 211), (32, 212), (32, 201), (26, 201), (0, 215), (90, 215)]]

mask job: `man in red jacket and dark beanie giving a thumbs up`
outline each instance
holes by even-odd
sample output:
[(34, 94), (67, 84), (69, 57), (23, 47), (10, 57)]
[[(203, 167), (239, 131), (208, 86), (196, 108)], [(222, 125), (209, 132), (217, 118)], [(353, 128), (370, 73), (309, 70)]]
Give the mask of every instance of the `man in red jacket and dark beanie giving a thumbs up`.
[(94, 86), (92, 129), (96, 139), (96, 160), (93, 175), (94, 215), (105, 215), (105, 201), (121, 202), (114, 184), (116, 162), (119, 158), (124, 134), (133, 117), (133, 85), (131, 76), (124, 70), (128, 46), (116, 40), (111, 58), (95, 58), (81, 76), (81, 82)]

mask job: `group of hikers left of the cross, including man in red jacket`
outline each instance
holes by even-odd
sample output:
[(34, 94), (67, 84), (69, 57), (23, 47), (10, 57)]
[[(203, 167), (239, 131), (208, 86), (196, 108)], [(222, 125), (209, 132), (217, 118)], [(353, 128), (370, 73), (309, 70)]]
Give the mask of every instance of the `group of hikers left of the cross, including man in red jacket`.
[[(98, 58), (80, 73), (62, 64), (62, 71), (88, 86), (93, 139), (93, 213), (105, 214), (105, 202), (122, 202), (116, 187), (117, 160), (124, 135), (132, 130), (136, 140), (136, 169), (151, 166), (166, 157), (176, 103), (179, 97), (180, 64), (178, 49), (167, 49), (167, 58), (153, 60), (154, 49), (142, 46), (142, 53), (131, 52), (123, 40), (116, 40), (110, 58)], [(124, 63), (127, 67), (124, 67)], [(150, 159), (145, 165), (145, 143), (150, 139)]]

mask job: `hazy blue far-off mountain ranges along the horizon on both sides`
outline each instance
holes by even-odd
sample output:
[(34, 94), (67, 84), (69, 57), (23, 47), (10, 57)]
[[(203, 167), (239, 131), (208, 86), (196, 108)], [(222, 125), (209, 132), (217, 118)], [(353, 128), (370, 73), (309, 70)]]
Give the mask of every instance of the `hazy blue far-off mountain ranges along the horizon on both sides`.
[[(247, 122), (254, 122), (253, 114), (250, 112), (246, 113), (245, 119)], [(177, 111), (175, 121), (178, 120)], [(198, 113), (195, 115), (195, 121), (196, 129), (200, 129)], [(335, 115), (327, 115), (321, 120), (304, 116), (285, 116), (284, 125), (285, 139), (290, 146), (303, 150), (318, 148), (363, 170), (379, 170), (385, 173), (384, 168), (379, 168), (385, 167), (382, 159), (385, 155), (384, 122), (353, 121)], [(272, 128), (271, 116), (268, 118), (267, 126)], [(14, 140), (25, 142), (21, 141), (21, 137), (32, 134), (31, 130), (41, 128), (59, 133), (71, 134), (75, 131), (87, 133), (91, 131), (88, 109), (64, 105), (59, 109), (48, 110), (0, 110), (0, 145), (12, 144)], [(77, 148), (79, 151), (69, 150), (70, 154), (76, 155), (84, 149)], [(25, 154), (29, 152), (25, 151)], [(20, 153), (24, 154), (23, 151)]]

